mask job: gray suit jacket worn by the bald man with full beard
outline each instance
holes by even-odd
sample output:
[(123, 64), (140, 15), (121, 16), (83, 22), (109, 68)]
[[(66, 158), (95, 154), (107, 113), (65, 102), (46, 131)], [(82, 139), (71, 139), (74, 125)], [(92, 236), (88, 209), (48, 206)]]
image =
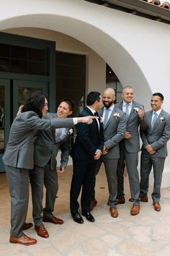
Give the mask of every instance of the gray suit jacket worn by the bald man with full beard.
[[(103, 115), (104, 108), (99, 111), (99, 116)], [(119, 114), (120, 117), (114, 116)], [(119, 142), (123, 139), (126, 129), (126, 116), (119, 108), (115, 106), (112, 114), (104, 128), (104, 145), (109, 150), (104, 158), (120, 158)]]

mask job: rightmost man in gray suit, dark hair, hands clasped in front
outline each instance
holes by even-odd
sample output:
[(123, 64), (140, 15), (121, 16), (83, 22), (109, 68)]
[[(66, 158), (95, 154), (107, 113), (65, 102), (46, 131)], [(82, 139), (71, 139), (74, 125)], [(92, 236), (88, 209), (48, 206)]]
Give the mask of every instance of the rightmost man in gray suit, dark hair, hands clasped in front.
[(149, 174), (153, 166), (153, 192), (151, 194), (154, 210), (160, 211), (161, 179), (164, 171), (164, 162), (167, 156), (166, 143), (170, 137), (170, 114), (161, 106), (164, 96), (161, 93), (153, 93), (151, 98), (151, 111), (145, 114), (145, 127), (140, 129), (143, 141), (140, 161), (140, 198), (148, 202)]

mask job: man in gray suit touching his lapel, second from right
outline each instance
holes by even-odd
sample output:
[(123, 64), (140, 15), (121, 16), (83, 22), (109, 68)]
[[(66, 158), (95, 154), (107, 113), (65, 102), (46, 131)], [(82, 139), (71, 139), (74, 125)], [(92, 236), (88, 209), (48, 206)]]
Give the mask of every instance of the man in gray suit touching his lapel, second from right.
[(139, 126), (143, 125), (144, 111), (143, 105), (133, 101), (133, 97), (133, 88), (126, 86), (122, 90), (123, 101), (116, 104), (117, 108), (125, 112), (127, 118), (126, 132), (124, 139), (120, 142), (120, 159), (117, 165), (117, 204), (125, 203), (123, 174), (126, 164), (130, 184), (130, 201), (133, 202), (130, 214), (135, 216), (140, 211), (138, 176)]

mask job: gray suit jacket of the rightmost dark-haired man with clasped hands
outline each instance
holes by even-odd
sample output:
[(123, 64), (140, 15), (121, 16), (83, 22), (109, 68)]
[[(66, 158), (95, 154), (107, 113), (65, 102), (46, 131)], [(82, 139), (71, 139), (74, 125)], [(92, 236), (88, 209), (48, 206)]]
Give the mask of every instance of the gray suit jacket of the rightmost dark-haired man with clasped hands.
[(150, 144), (153, 150), (156, 150), (154, 154), (156, 157), (165, 158), (168, 154), (166, 143), (170, 137), (170, 114), (162, 110), (152, 129), (152, 113), (152, 110), (146, 112), (144, 119), (146, 127), (140, 129), (140, 136), (143, 141), (142, 150), (145, 150), (146, 145)]

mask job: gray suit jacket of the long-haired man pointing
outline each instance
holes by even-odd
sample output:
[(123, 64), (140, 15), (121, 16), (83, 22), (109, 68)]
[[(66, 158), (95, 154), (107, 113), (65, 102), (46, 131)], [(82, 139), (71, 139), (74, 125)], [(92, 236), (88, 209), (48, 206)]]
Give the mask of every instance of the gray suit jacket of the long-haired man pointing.
[[(34, 167), (34, 140), (38, 130), (51, 127), (71, 127), (73, 119), (40, 119), (34, 111), (16, 116), (9, 133), (3, 161), (7, 166), (32, 169)], [(48, 149), (46, 148), (46, 153)]]

